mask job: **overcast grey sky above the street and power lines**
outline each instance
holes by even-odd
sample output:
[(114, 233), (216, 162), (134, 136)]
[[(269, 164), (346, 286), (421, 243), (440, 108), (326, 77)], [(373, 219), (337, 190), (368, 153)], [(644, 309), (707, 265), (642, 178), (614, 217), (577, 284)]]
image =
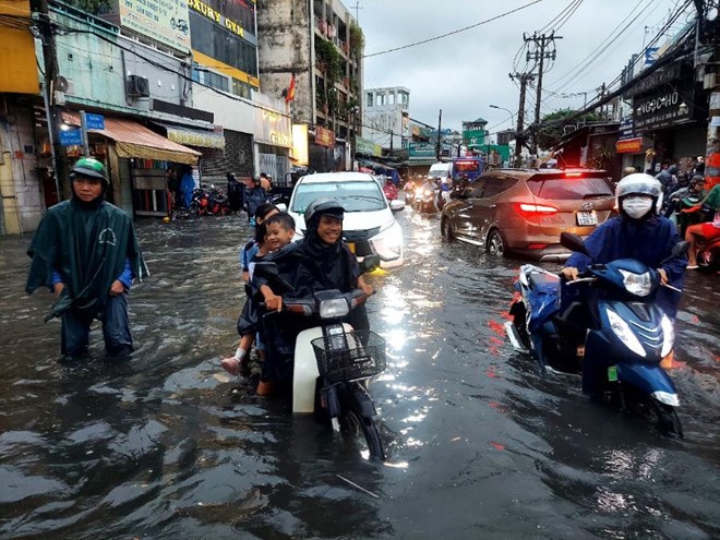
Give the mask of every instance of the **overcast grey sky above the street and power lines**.
[[(496, 132), (511, 128), (509, 113), (488, 106), (505, 107), (516, 115), (519, 91), (508, 73), (533, 65), (526, 62), (527, 49), (514, 62), (524, 32), (531, 35), (545, 27), (549, 34), (556, 28), (555, 35), (562, 36), (555, 41), (557, 58), (550, 62), (543, 88), (561, 94), (588, 92), (587, 99), (591, 100), (596, 88), (613, 81), (631, 55), (641, 51), (644, 41), (649, 43), (658, 34), (669, 14), (685, 4), (685, 0), (541, 0), (442, 39), (371, 56), (458, 31), (532, 1), (358, 0), (361, 9), (357, 13), (365, 35), (364, 87), (406, 86), (410, 89), (410, 117), (432, 125), (437, 124), (442, 109), (443, 128), (459, 130), (463, 120), (482, 117), (489, 121), (491, 132)], [(355, 14), (356, 0), (344, 2)], [(562, 13), (565, 15), (547, 26)], [(692, 5), (686, 13), (692, 13)], [(686, 20), (683, 14), (668, 35), (679, 31)], [(609, 39), (625, 26), (620, 37)], [(596, 60), (573, 75), (573, 70), (605, 46)], [(531, 120), (535, 113), (535, 92), (529, 92), (526, 101), (526, 124), (527, 115)], [(583, 95), (563, 98), (543, 93), (541, 115), (581, 107), (583, 103)]]

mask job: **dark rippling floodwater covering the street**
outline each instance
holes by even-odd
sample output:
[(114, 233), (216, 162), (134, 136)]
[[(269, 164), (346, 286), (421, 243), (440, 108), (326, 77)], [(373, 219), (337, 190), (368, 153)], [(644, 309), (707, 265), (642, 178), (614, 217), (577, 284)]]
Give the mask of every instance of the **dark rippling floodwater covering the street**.
[(139, 224), (153, 276), (132, 290), (122, 363), (99, 333), (88, 362), (57, 362), (51, 297), (23, 292), (31, 238), (1, 238), (0, 537), (720, 537), (716, 276), (688, 276), (672, 372), (686, 437), (667, 439), (512, 351), (518, 262), (444, 242), (437, 216), (398, 219), (405, 266), (369, 277), (386, 464), (219, 368), (244, 219)]

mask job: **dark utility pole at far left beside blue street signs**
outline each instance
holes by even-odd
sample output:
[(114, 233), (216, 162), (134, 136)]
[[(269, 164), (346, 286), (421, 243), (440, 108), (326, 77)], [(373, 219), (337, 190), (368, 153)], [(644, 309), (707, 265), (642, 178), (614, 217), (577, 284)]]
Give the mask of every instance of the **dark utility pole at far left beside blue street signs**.
[(55, 43), (56, 25), (50, 19), (48, 0), (38, 0), (38, 19), (36, 26), (43, 41), (43, 60), (45, 77), (43, 81), (45, 94), (45, 112), (48, 122), (48, 134), (52, 145), (52, 161), (55, 167), (55, 187), (58, 192), (58, 201), (64, 199), (63, 191), (69, 190), (67, 183), (68, 156), (64, 147), (60, 144), (59, 119), (60, 111), (55, 101), (55, 81), (58, 76), (57, 47)]

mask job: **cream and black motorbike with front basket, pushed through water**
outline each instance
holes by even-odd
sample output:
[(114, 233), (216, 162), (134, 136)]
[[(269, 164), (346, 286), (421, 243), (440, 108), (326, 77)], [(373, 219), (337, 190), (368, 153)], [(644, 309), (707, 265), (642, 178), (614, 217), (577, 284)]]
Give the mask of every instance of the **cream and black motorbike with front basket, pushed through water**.
[[(380, 256), (368, 255), (361, 271), (377, 266)], [(257, 263), (254, 272), (286, 290), (292, 289), (279, 279), (275, 263)], [(362, 435), (369, 456), (384, 460), (385, 451), (374, 421), (375, 405), (368, 393), (367, 380), (385, 370), (385, 340), (373, 332), (358, 332), (341, 322), (367, 298), (361, 290), (324, 290), (307, 298), (284, 299), (285, 310), (317, 321), (316, 326), (300, 332), (296, 339), (292, 412), (324, 413), (335, 432), (358, 439)]]

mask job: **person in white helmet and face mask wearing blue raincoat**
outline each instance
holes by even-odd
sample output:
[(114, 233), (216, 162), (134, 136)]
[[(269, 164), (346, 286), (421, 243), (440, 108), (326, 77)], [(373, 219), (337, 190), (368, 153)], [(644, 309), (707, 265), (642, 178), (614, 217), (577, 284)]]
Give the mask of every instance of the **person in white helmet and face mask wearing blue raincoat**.
[[(585, 240), (590, 256), (573, 253), (562, 271), (563, 276), (574, 280), (589, 264), (636, 259), (657, 268), (662, 283), (682, 289), (687, 257), (671, 255), (680, 235), (670, 219), (659, 215), (662, 184), (650, 175), (628, 175), (617, 183), (615, 196), (620, 215), (608, 219)], [(674, 319), (679, 292), (661, 287), (656, 301), (668, 316)]]

